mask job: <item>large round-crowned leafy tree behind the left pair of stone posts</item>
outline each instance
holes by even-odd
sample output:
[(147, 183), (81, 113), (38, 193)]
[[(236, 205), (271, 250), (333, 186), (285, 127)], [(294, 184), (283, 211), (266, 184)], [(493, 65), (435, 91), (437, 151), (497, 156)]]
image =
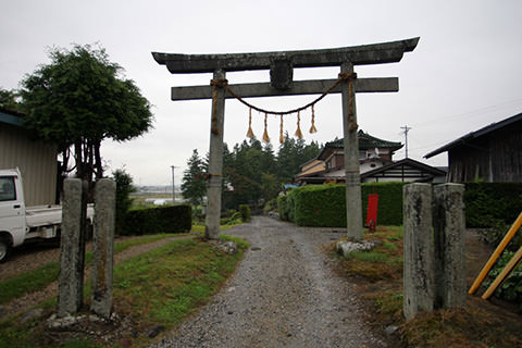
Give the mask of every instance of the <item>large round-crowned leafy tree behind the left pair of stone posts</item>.
[(151, 127), (150, 104), (123, 69), (109, 61), (105, 50), (75, 45), (53, 49), (51, 63), (22, 80), (22, 110), (27, 128), (55, 144), (62, 171), (75, 161), (77, 177), (103, 177), (100, 153), (105, 138), (125, 141)]

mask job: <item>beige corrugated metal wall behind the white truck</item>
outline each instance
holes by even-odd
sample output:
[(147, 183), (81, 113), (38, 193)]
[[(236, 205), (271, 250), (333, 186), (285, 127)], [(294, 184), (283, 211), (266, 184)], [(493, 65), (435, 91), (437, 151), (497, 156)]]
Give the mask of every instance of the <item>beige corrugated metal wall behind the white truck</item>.
[(53, 204), (57, 192), (57, 150), (30, 140), (21, 127), (0, 123), (0, 169), (18, 167), (26, 206)]

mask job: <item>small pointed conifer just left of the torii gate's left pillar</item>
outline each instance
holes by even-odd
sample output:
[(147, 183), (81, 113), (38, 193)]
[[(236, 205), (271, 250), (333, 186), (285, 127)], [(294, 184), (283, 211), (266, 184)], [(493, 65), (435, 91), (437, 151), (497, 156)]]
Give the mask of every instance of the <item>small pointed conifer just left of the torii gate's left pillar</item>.
[(182, 192), (194, 206), (199, 206), (207, 194), (204, 181), (207, 166), (199, 158), (198, 150), (194, 149), (192, 156), (187, 161), (187, 169), (183, 172)]

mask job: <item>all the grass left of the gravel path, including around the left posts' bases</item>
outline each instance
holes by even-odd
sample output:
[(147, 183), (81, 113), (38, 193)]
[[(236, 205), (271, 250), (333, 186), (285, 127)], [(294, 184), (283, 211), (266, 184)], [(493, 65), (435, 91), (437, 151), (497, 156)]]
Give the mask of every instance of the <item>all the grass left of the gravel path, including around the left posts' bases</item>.
[[(110, 343), (85, 332), (71, 335), (47, 330), (42, 319), (55, 310), (52, 299), (40, 304), (45, 313), (33, 322), (22, 323), (18, 316), (1, 323), (0, 347), (120, 347), (122, 337), (133, 347), (148, 346), (152, 343), (148, 328), (162, 325), (165, 332), (173, 330), (207, 303), (235, 271), (249, 245), (235, 237), (220, 238), (236, 241), (238, 252), (224, 253), (199, 238), (178, 239), (116, 265), (113, 308), (132, 324)], [(88, 288), (86, 284), (87, 304)], [(137, 337), (133, 333), (138, 333)]]

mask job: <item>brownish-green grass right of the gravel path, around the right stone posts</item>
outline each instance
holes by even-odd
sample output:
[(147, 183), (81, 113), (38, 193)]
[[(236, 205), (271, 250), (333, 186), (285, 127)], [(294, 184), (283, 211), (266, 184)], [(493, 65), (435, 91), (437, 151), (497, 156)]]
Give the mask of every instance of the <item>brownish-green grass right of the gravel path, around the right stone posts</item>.
[(364, 239), (377, 243), (372, 251), (339, 257), (340, 272), (357, 284), (375, 331), (400, 326), (399, 335), (386, 338), (389, 347), (522, 347), (521, 316), (476, 297), (469, 296), (464, 309), (421, 313), (406, 322), (402, 237), (402, 227), (380, 226), (364, 233)]

